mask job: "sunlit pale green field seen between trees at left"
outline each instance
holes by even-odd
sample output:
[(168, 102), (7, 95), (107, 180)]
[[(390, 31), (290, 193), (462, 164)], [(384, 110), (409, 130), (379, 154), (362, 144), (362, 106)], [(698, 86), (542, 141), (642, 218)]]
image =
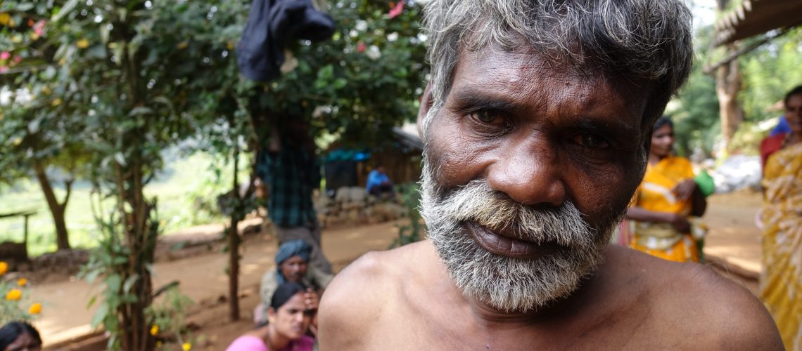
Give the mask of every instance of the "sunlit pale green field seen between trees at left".
[[(195, 204), (197, 197), (213, 201), (222, 189), (230, 187), (230, 166), (224, 166), (221, 177), (217, 177), (212, 166), (221, 164), (209, 154), (192, 154), (180, 158), (173, 156), (156, 180), (152, 181), (145, 193), (158, 198), (159, 217), (163, 223), (164, 233), (192, 225), (221, 221), (213, 213), (199, 211)], [(241, 162), (244, 163), (244, 162)], [(243, 178), (243, 177), (241, 177)], [(64, 191), (56, 184), (59, 200)], [(96, 245), (99, 231), (95, 224), (91, 205), (91, 185), (88, 182), (76, 182), (70, 202), (67, 205), (67, 229), (70, 231), (70, 243), (73, 247), (90, 248)], [(96, 205), (95, 199), (95, 207)], [(110, 210), (113, 203), (105, 201), (103, 209)], [(35, 179), (19, 181), (14, 187), (0, 189), (0, 213), (36, 210), (30, 217), (28, 253), (37, 256), (54, 251), (55, 228), (50, 211), (47, 209), (41, 189)], [(0, 219), (0, 242), (22, 241), (22, 217)]]

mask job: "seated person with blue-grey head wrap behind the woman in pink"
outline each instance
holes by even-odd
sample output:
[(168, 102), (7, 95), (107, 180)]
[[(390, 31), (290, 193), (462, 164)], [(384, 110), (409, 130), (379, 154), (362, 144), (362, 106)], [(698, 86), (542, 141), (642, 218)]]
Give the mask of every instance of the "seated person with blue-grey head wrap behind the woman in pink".
[(314, 291), (314, 298), (322, 294), (323, 289), (334, 279), (333, 274), (324, 273), (318, 267), (310, 265), (310, 252), (312, 248), (302, 239), (286, 241), (279, 246), (276, 253), (276, 269), (271, 269), (261, 278), (259, 295), (261, 304), (257, 305), (254, 313), (254, 322), (260, 324), (265, 321), (267, 306), (279, 285), (286, 281), (293, 281), (308, 286)]

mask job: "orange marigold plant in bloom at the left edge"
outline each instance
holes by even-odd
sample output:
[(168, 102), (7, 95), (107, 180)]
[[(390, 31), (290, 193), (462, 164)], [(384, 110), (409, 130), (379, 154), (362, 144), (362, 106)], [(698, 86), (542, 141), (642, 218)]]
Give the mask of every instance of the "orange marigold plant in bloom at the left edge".
[(27, 279), (7, 279), (7, 272), (8, 264), (0, 261), (0, 325), (34, 319), (42, 313), (42, 304), (28, 301)]

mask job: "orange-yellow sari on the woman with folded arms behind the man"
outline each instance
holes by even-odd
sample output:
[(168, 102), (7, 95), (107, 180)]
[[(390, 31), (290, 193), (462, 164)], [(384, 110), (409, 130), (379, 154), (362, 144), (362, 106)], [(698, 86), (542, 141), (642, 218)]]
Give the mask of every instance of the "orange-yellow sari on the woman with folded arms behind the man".
[[(680, 181), (693, 177), (694, 169), (687, 158), (663, 158), (654, 166), (646, 166), (646, 174), (631, 205), (687, 216), (691, 213), (691, 199), (679, 200), (671, 189)], [(669, 223), (634, 221), (634, 238), (630, 247), (669, 261), (699, 261), (699, 251), (691, 234), (680, 233)]]

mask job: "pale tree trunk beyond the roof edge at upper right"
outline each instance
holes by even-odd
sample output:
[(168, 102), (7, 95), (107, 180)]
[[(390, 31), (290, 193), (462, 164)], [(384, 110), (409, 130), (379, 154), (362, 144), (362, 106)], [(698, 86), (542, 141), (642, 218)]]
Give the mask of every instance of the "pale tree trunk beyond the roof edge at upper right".
[[(727, 51), (737, 50), (734, 44), (727, 46)], [(724, 138), (724, 149), (729, 146), (732, 136), (743, 122), (743, 109), (738, 102), (738, 92), (741, 90), (741, 73), (738, 60), (732, 60), (727, 65), (719, 67), (715, 75), (715, 93), (719, 98), (719, 113), (721, 114), (721, 133)]]

